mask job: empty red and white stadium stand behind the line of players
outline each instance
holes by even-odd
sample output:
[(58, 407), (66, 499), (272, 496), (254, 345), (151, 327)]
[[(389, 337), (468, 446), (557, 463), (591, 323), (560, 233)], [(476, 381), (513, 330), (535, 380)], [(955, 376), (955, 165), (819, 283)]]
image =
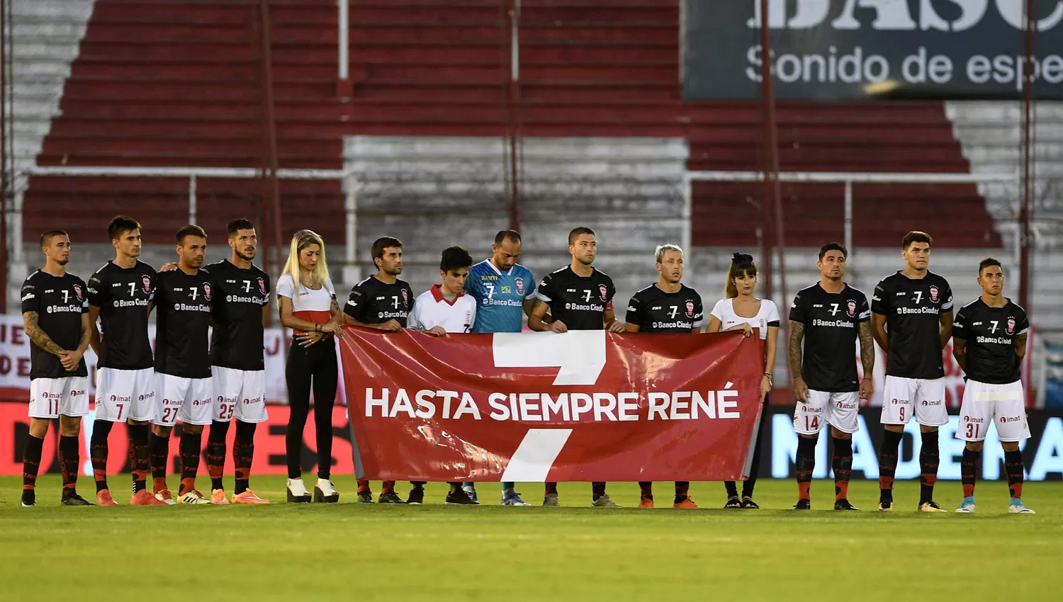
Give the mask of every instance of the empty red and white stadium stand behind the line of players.
[[(261, 165), (254, 4), (250, 0), (14, 0), (19, 34), (15, 72), (16, 78), (24, 78), (16, 81), (32, 84), (16, 86), (27, 97), (24, 104), (16, 104), (15, 123), (19, 132), (36, 136), (36, 142), (32, 136), (17, 142), (23, 149), (19, 165), (32, 165), (34, 154), (41, 166)], [(382, 205), (385, 197), (374, 196), (372, 180), (387, 176), (360, 178), (358, 241), (365, 246), (367, 238), (391, 227), (392, 222), (383, 220), (382, 208), (401, 206), (404, 211), (416, 211), (445, 200), (432, 191), (439, 186), (436, 171), (443, 164), (428, 166), (433, 161), (426, 162), (425, 152), (453, 160), (482, 156), (484, 165), (494, 156), (496, 162), (478, 171), (478, 177), (491, 174), (493, 179), (482, 187), (482, 199), (462, 205), (468, 209), (463, 219), (442, 225), (426, 219), (418, 222), (421, 228), (408, 223), (400, 228), (403, 238), (418, 241), (417, 246), (423, 242), (425, 250), (439, 246), (429, 242), (428, 230), (436, 228), (452, 233), (474, 254), (483, 253), (483, 234), (508, 222), (503, 206), (507, 190), (502, 138), (509, 119), (509, 49), (502, 3), (352, 0), (351, 79), (347, 83), (337, 81), (333, 0), (273, 0), (271, 10), (282, 167), (341, 169), (358, 160), (368, 160), (368, 166), (377, 160), (371, 155), (379, 149), (407, 149), (407, 156), (399, 162), (419, 166), (416, 170), (428, 184), (402, 204)], [(545, 247), (563, 243), (556, 236), (540, 234), (540, 227), (570, 224), (606, 207), (618, 211), (618, 220), (627, 216), (639, 225), (647, 223), (649, 207), (659, 208), (664, 222), (676, 219), (682, 193), (674, 183), (610, 192), (595, 180), (603, 173), (620, 174), (644, 162), (654, 144), (661, 144), (664, 179), (674, 176), (672, 164), (680, 154), (688, 157), (690, 170), (760, 167), (762, 121), (757, 103), (681, 101), (678, 23), (678, 2), (522, 2), (523, 228), (529, 237), (528, 250), (545, 258), (543, 265), (563, 254), (563, 246)], [(780, 103), (781, 168), (904, 173), (995, 170), (998, 165), (986, 164), (984, 155), (973, 153), (972, 144), (977, 142), (957, 141), (965, 141), (967, 132), (979, 131), (979, 122), (985, 122), (984, 113), (969, 115), (965, 119), (952, 104), (946, 107), (939, 102)], [(1006, 119), (1012, 117), (1003, 115), (1001, 126)], [(980, 131), (995, 136), (985, 125), (981, 123)], [(435, 150), (425, 151), (414, 142), (422, 137), (432, 137), (425, 143), (436, 144)], [(440, 140), (451, 143), (439, 148)], [(480, 145), (486, 140), (489, 145)], [(358, 158), (352, 154), (355, 149), (369, 155)], [(571, 159), (573, 153), (583, 152), (578, 149), (612, 156), (595, 155), (564, 173), (586, 194), (563, 201), (557, 189), (541, 194), (543, 187), (537, 182), (544, 179), (542, 157)], [(562, 162), (571, 161), (557, 164)], [(407, 177), (417, 179), (419, 174)], [(51, 225), (58, 211), (75, 240), (98, 241), (98, 216), (129, 211), (151, 223), (148, 242), (168, 243), (169, 233), (187, 219), (187, 185), (184, 178), (34, 176), (22, 186), (26, 240)], [(261, 186), (250, 179), (200, 178), (198, 221), (220, 238), (226, 217), (260, 214)], [(879, 256), (876, 247), (882, 250), (881, 262), (871, 263), (866, 278), (879, 275), (880, 265), (893, 264), (893, 247), (904, 231), (926, 223), (948, 223), (949, 227), (933, 233), (940, 247), (1000, 253), (999, 233), (1007, 228), (994, 224), (994, 217), (1003, 219), (999, 208), (1011, 193), (1010, 189), (994, 192), (974, 185), (857, 185), (854, 242), (865, 251), (865, 261)], [(841, 237), (843, 194), (842, 186), (836, 184), (788, 184), (783, 194), (787, 243), (797, 254), (789, 262), (792, 266), (802, 257), (802, 248), (817, 246), (830, 233)], [(979, 194), (990, 199), (989, 210)], [(645, 204), (637, 207), (640, 196)], [(706, 256), (698, 272), (716, 269), (715, 254), (721, 248), (756, 251), (758, 240), (750, 224), (761, 219), (760, 197), (761, 186), (755, 184), (693, 186), (691, 242)], [(344, 240), (340, 182), (282, 182), (282, 205), (287, 230), (314, 228), (333, 243), (334, 252), (339, 251), (337, 243), (341, 246)], [(919, 208), (919, 224), (898, 219), (905, 207)], [(955, 220), (957, 214), (963, 219)], [(627, 255), (637, 257), (651, 238), (678, 234), (672, 225), (662, 228), (647, 230), (645, 238), (615, 240), (625, 245)], [(106, 248), (101, 253), (99, 257), (90, 254), (92, 264), (102, 261)], [(169, 253), (168, 245), (161, 247), (158, 257)], [(366, 255), (359, 248), (362, 272), (369, 265)], [(431, 261), (431, 255), (418, 250), (411, 260)], [(630, 265), (638, 261), (634, 259)], [(956, 263), (962, 265), (959, 257)], [(614, 265), (628, 270), (626, 259)], [(649, 276), (652, 265), (632, 270), (634, 287)], [(356, 273), (347, 272), (352, 277)], [(17, 271), (13, 272), (16, 277)], [(693, 283), (703, 283), (703, 278), (704, 283), (715, 286), (714, 276), (701, 274), (692, 278)], [(791, 280), (800, 278), (797, 272)]]

